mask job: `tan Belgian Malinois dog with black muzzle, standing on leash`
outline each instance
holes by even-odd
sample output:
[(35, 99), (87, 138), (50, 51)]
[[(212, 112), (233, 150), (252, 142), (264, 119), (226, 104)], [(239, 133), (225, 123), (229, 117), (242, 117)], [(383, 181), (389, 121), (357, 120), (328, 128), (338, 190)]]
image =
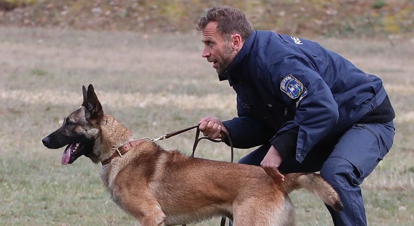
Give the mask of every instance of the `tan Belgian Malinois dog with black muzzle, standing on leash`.
[(82, 90), (82, 105), (42, 142), (50, 149), (67, 145), (63, 165), (82, 155), (102, 162), (100, 176), (112, 200), (141, 225), (186, 224), (213, 216), (232, 218), (235, 226), (295, 225), (288, 194), (298, 188), (336, 210), (342, 207), (335, 190), (314, 173), (291, 173), (284, 182), (275, 181), (261, 167), (190, 158), (155, 142), (111, 157), (132, 141), (131, 132), (103, 113), (92, 85)]

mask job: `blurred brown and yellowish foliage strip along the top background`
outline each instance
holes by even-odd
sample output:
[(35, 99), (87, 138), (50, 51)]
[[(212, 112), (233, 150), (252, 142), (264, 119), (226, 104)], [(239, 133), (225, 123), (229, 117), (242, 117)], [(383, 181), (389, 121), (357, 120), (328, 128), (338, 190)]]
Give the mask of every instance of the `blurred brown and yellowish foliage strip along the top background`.
[(353, 37), (414, 32), (414, 0), (0, 0), (0, 25), (185, 33), (213, 5), (244, 11), (256, 30)]

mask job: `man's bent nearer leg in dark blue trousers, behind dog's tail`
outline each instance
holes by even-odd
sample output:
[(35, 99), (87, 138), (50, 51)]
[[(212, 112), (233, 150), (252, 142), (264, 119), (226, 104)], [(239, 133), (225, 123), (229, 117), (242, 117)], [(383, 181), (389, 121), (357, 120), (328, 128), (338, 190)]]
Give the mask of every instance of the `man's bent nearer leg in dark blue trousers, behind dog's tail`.
[(366, 225), (364, 201), (359, 185), (391, 148), (392, 122), (357, 124), (339, 140), (321, 169), (321, 176), (338, 192), (344, 210), (328, 207), (335, 225)]

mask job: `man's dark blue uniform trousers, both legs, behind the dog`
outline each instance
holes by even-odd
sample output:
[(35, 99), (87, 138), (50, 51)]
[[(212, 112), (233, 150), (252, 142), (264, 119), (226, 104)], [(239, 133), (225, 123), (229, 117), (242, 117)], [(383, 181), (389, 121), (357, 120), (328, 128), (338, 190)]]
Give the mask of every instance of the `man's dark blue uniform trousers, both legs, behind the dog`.
[[(355, 124), (334, 146), (315, 147), (302, 163), (294, 155), (286, 157), (279, 170), (283, 173), (317, 172), (338, 192), (344, 210), (336, 212), (328, 207), (335, 225), (366, 225), (361, 185), (392, 146), (393, 122)], [(250, 152), (239, 163), (260, 166), (270, 144)]]

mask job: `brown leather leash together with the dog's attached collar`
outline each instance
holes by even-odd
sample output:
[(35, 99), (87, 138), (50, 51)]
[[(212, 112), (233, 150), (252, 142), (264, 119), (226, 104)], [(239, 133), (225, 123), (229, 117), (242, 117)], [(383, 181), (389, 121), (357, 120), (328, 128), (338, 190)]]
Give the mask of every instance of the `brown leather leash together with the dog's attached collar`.
[[(146, 142), (146, 139), (148, 139), (150, 142), (157, 142), (157, 141), (161, 141), (161, 140), (164, 140), (164, 139), (168, 139), (170, 137), (174, 137), (176, 135), (179, 135), (179, 134), (182, 134), (182, 133), (187, 132), (189, 130), (192, 130), (192, 129), (197, 128), (196, 137), (194, 139), (193, 152), (191, 153), (191, 156), (190, 156), (190, 158), (194, 158), (194, 153), (196, 151), (198, 142), (200, 142), (201, 140), (207, 139), (209, 141), (212, 141), (212, 142), (215, 142), (215, 143), (219, 143), (219, 142), (224, 142), (224, 139), (227, 137), (227, 135), (223, 131), (221, 131), (221, 138), (220, 139), (213, 139), (213, 138), (209, 138), (209, 137), (202, 137), (202, 138), (200, 138), (200, 129), (198, 129), (198, 126), (199, 125), (192, 126), (192, 127), (189, 127), (189, 128), (185, 128), (185, 129), (179, 130), (179, 131), (174, 131), (174, 132), (165, 134), (165, 135), (163, 135), (163, 136), (161, 136), (161, 137), (159, 137), (157, 139), (151, 139), (149, 137), (144, 137), (144, 138), (141, 138), (140, 140), (130, 141), (130, 142), (128, 142), (126, 144), (123, 144), (122, 146), (118, 147), (116, 149), (116, 152), (113, 153), (111, 157), (109, 157), (108, 159), (105, 159), (104, 161), (102, 161), (101, 162), (102, 163), (102, 166), (108, 164), (113, 158), (122, 157), (130, 149), (132, 149), (132, 148), (140, 145), (141, 143)], [(229, 143), (230, 143), (230, 150), (231, 150), (230, 161), (233, 162), (233, 156), (234, 156), (234, 154), (233, 154), (233, 143), (231, 142), (230, 137), (228, 137), (228, 140), (229, 140)], [(220, 226), (224, 226), (225, 224), (226, 224), (226, 217), (222, 217), (221, 218)], [(187, 225), (186, 224), (183, 224), (183, 226), (187, 226)]]

